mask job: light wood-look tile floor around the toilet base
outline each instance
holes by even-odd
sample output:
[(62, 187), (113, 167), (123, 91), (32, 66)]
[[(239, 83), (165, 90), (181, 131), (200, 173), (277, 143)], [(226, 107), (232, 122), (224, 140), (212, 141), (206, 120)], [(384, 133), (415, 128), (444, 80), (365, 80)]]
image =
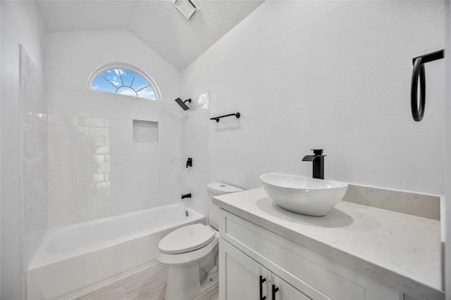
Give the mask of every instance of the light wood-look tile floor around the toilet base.
[[(158, 263), (73, 300), (163, 300), (168, 270)], [(218, 300), (218, 285), (196, 300)]]

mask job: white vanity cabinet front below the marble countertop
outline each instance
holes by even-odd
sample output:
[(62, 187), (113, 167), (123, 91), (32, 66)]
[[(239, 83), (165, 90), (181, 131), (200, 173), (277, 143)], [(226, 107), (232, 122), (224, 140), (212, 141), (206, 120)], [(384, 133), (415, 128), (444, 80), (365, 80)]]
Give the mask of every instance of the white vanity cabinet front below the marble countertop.
[(285, 237), (223, 209), (220, 214), (221, 300), (402, 299), (395, 289)]

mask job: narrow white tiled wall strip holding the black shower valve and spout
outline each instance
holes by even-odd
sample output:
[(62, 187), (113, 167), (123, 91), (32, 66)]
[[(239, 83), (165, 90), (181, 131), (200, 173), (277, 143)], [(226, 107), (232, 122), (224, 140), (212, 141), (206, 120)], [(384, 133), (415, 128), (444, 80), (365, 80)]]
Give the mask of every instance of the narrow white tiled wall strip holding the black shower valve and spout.
[[(182, 192), (191, 193), (186, 204), (208, 216), (206, 185), (209, 183), (209, 93), (193, 98), (190, 109), (183, 112), (182, 124)], [(192, 167), (186, 168), (187, 158), (192, 158)]]

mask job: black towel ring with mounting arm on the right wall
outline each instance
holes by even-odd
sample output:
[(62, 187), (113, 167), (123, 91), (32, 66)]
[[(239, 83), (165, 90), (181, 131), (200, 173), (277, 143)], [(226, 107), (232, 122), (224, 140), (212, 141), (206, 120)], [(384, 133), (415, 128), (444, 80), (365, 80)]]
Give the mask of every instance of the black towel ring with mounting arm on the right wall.
[[(424, 64), (444, 57), (444, 50), (428, 53), (424, 56), (413, 58), (414, 71), (412, 72), (412, 86), (410, 88), (410, 106), (412, 117), (416, 122), (420, 122), (424, 115), (424, 105), (426, 103), (426, 75)], [(418, 80), (420, 80), (420, 102), (418, 103)]]

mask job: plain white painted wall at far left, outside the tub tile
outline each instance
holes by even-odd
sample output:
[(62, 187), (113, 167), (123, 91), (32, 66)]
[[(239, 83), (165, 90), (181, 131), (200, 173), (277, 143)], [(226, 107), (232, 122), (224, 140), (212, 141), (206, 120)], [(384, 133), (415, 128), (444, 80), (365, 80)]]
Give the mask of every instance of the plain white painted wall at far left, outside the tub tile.
[[(19, 44), (37, 72), (46, 77), (47, 34), (34, 1), (1, 1), (1, 299), (20, 299), (25, 291), (23, 242), (22, 102)], [(45, 86), (44, 86), (45, 90)], [(21, 290), (22, 289), (22, 290)]]

